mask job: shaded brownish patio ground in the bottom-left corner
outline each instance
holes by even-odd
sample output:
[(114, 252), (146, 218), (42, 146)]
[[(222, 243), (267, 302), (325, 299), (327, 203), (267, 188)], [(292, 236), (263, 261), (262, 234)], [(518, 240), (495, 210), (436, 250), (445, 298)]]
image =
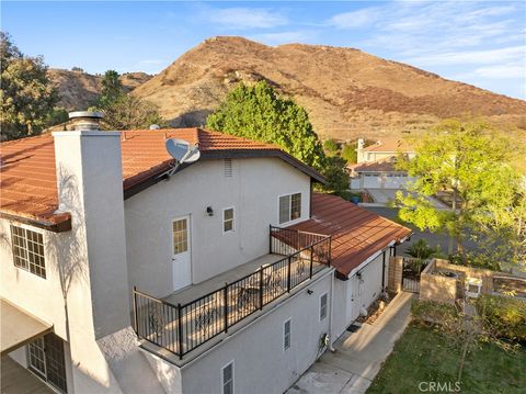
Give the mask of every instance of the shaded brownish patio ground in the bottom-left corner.
[(2, 394), (54, 394), (43, 381), (8, 356), (0, 360)]

